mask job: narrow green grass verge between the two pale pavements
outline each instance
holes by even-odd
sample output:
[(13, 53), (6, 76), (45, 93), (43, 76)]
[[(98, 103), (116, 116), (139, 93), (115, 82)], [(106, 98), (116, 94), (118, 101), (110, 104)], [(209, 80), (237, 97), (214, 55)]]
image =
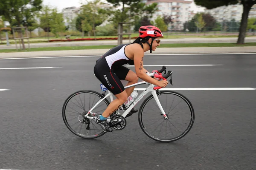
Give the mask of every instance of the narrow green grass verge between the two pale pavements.
[[(93, 45), (93, 46), (68, 46), (68, 47), (41, 47), (26, 50), (5, 49), (0, 53), (29, 52), (29, 51), (63, 51), (63, 50), (88, 50), (88, 49), (110, 49), (116, 45)], [(256, 42), (248, 42), (242, 45), (236, 43), (189, 43), (189, 44), (161, 44), (158, 48), (181, 48), (181, 47), (244, 47), (256, 46)]]

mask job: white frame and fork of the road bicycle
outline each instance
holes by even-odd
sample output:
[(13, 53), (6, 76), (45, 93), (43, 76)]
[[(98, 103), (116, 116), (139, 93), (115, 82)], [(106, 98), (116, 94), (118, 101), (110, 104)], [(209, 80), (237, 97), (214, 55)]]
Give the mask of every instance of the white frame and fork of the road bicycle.
[[(148, 74), (148, 75), (149, 75), (149, 76), (153, 76), (154, 74), (155, 74), (155, 73), (151, 73), (151, 74)], [(155, 101), (156, 101), (158, 107), (160, 108), (160, 111), (162, 112), (163, 116), (164, 116), (166, 119), (168, 119), (167, 116), (166, 116), (165, 111), (163, 110), (162, 105), (160, 104), (160, 101), (159, 101), (159, 99), (158, 99), (158, 97), (157, 97), (157, 92), (156, 92), (156, 90), (154, 90), (154, 85), (153, 85), (153, 84), (148, 83), (148, 82), (145, 82), (145, 81), (142, 81), (142, 82), (134, 83), (134, 84), (132, 84), (132, 85), (125, 86), (124, 88), (130, 88), (130, 87), (133, 87), (133, 86), (143, 85), (143, 84), (149, 84), (149, 86), (134, 100), (134, 102), (132, 102), (132, 104), (127, 108), (127, 110), (126, 110), (121, 116), (126, 117), (127, 114), (131, 111), (131, 109), (132, 109), (135, 105), (137, 105), (137, 103), (140, 102), (140, 100), (141, 100), (146, 94), (148, 94), (148, 93), (151, 92), (151, 94), (154, 96), (154, 99), (155, 99)], [(113, 101), (113, 94), (111, 93), (111, 91), (109, 91), (109, 90), (107, 90), (107, 91), (108, 91), (108, 94), (106, 94), (106, 95), (104, 96), (104, 98), (100, 99), (100, 100), (99, 100), (95, 105), (93, 105), (93, 107), (88, 111), (88, 113), (85, 115), (86, 118), (88, 118), (88, 119), (96, 119), (96, 117), (88, 116), (88, 114), (95, 114), (95, 115), (97, 115), (96, 113), (93, 113), (92, 111), (93, 111), (93, 109), (94, 109), (97, 105), (99, 105), (99, 103), (102, 102), (105, 98), (110, 97), (111, 102)], [(111, 119), (108, 117), (107, 120), (108, 120), (108, 122), (110, 122)]]

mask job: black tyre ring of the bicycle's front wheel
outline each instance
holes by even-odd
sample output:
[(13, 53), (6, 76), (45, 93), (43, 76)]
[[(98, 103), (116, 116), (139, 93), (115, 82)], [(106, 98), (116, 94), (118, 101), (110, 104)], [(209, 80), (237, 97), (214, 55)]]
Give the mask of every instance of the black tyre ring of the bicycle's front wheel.
[(142, 121), (142, 113), (143, 113), (143, 108), (145, 107), (146, 103), (149, 102), (151, 99), (154, 99), (154, 96), (151, 94), (150, 96), (148, 96), (144, 101), (143, 103), (141, 104), (140, 106), (140, 110), (139, 110), (139, 113), (138, 113), (138, 120), (139, 120), (139, 124), (140, 124), (140, 127), (141, 129), (143, 130), (143, 132), (151, 139), (153, 140), (156, 140), (158, 142), (174, 142), (174, 141), (177, 141), (181, 138), (183, 138), (184, 136), (186, 136), (187, 133), (189, 133), (189, 131), (191, 130), (193, 124), (194, 124), (194, 121), (195, 121), (195, 111), (194, 111), (194, 108), (192, 106), (192, 103), (189, 101), (189, 99), (184, 96), (183, 94), (180, 94), (176, 91), (169, 91), (169, 90), (166, 90), (166, 91), (160, 91), (160, 95), (161, 94), (174, 94), (176, 96), (179, 96), (180, 98), (182, 98), (186, 103), (187, 105), (189, 106), (189, 110), (190, 110), (190, 114), (191, 114), (191, 118), (190, 118), (190, 122), (189, 122), (189, 126), (186, 128), (186, 130), (180, 134), (180, 136), (177, 136), (173, 139), (168, 139), (168, 140), (163, 140), (163, 139), (157, 139), (155, 138), (153, 135), (151, 135), (150, 133), (148, 133), (148, 131), (146, 130), (146, 128), (144, 127), (143, 125), (143, 121)]

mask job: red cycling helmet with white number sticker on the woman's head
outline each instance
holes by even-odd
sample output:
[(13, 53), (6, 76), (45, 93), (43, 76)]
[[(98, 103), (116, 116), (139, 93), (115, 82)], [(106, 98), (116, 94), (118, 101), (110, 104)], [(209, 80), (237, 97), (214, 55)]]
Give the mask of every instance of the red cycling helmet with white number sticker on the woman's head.
[(141, 26), (139, 30), (139, 37), (145, 38), (150, 37), (163, 37), (163, 33), (156, 26)]

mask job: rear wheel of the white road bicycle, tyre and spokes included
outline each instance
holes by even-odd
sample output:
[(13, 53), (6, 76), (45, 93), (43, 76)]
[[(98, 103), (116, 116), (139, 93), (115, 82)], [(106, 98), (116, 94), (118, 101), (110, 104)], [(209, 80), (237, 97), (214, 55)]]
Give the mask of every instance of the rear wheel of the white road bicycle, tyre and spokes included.
[[(98, 138), (105, 134), (102, 127), (93, 119), (84, 118), (89, 109), (101, 99), (100, 97), (101, 94), (96, 91), (81, 90), (71, 94), (65, 100), (62, 107), (62, 118), (72, 133), (86, 139)], [(93, 113), (102, 114), (108, 105), (108, 99), (104, 99), (93, 109)]]

